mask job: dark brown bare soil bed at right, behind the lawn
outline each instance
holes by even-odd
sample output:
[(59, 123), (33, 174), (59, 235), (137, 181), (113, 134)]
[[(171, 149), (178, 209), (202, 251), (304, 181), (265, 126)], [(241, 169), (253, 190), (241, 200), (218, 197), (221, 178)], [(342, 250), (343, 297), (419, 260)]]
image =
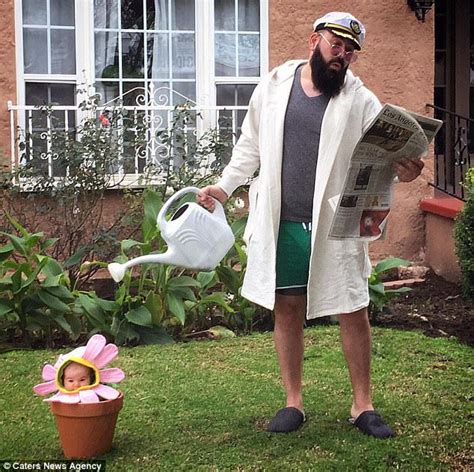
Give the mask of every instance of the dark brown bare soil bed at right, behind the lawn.
[(412, 291), (393, 298), (373, 320), (375, 326), (421, 330), (427, 336), (455, 336), (474, 346), (474, 300), (463, 298), (459, 285), (432, 272)]

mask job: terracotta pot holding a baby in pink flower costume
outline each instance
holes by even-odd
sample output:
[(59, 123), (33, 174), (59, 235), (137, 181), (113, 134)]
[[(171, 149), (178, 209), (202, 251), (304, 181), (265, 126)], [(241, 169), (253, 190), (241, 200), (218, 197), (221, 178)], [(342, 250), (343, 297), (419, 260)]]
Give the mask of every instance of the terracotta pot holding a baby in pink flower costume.
[(43, 367), (45, 382), (33, 390), (38, 395), (55, 392), (45, 401), (51, 404), (67, 458), (96, 457), (112, 447), (123, 395), (105, 384), (118, 383), (125, 375), (121, 369), (104, 367), (117, 354), (115, 344), (106, 344), (105, 337), (96, 334), (86, 346), (60, 355), (54, 365)]

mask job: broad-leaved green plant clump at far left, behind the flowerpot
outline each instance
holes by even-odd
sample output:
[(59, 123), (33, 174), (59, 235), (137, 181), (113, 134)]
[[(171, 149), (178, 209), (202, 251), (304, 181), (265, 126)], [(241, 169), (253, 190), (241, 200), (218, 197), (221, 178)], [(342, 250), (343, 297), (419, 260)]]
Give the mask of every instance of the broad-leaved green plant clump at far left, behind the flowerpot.
[[(51, 340), (54, 329), (71, 339), (81, 333), (81, 321), (73, 309), (74, 295), (63, 267), (46, 254), (56, 239), (29, 233), (10, 215), (19, 235), (2, 232), (8, 242), (0, 248), (0, 321), (5, 330), (23, 336)], [(18, 331), (18, 333), (16, 333)]]

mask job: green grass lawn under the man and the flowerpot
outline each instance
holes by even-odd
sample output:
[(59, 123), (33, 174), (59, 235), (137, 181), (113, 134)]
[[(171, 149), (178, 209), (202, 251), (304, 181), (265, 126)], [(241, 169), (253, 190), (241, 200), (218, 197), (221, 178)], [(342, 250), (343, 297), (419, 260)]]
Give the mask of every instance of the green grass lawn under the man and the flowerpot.
[[(472, 349), (454, 339), (374, 329), (375, 405), (398, 436), (347, 422), (351, 395), (336, 326), (306, 330), (308, 422), (270, 435), (283, 405), (270, 333), (122, 348), (126, 379), (110, 471), (472, 470)], [(0, 356), (0, 459), (61, 459), (49, 406), (32, 387), (58, 352)]]

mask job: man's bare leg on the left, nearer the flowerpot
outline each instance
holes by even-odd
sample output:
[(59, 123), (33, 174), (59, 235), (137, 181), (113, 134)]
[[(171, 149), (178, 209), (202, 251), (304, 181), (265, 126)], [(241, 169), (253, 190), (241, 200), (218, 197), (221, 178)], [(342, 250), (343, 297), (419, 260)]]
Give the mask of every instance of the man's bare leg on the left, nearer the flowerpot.
[(303, 410), (303, 326), (306, 295), (276, 295), (273, 339), (286, 391), (286, 406)]

